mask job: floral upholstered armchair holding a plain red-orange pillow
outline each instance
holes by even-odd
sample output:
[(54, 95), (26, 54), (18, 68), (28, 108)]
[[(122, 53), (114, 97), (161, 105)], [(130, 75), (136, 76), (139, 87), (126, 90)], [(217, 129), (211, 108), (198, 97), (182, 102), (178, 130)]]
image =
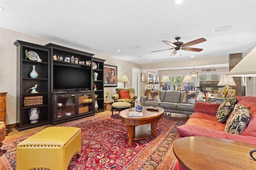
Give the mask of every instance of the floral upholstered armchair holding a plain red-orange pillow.
[[(129, 90), (130, 93), (130, 99), (128, 97), (126, 99), (120, 98), (120, 91), (126, 91)], [(135, 95), (135, 89), (133, 88), (116, 88), (116, 94), (112, 96), (112, 99), (115, 102), (127, 102), (131, 104), (131, 107), (134, 107), (135, 100), (137, 99), (137, 96)]]

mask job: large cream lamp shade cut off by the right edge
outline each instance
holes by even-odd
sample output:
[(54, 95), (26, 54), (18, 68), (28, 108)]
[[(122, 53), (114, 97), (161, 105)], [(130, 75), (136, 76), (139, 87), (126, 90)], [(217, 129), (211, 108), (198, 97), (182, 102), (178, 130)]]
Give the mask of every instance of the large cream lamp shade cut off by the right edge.
[(233, 77), (256, 77), (256, 47), (226, 75)]

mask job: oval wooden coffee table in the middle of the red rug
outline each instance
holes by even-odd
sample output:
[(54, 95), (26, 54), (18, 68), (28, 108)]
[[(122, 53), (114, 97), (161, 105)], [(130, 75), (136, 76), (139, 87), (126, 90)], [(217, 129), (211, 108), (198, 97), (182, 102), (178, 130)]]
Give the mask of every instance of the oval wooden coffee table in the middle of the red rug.
[(156, 138), (156, 126), (161, 119), (164, 109), (158, 107), (158, 111), (147, 110), (142, 107), (143, 116), (129, 116), (130, 111), (136, 111), (136, 108), (126, 109), (120, 112), (119, 116), (128, 129), (128, 144), (132, 140), (141, 140), (153, 135)]

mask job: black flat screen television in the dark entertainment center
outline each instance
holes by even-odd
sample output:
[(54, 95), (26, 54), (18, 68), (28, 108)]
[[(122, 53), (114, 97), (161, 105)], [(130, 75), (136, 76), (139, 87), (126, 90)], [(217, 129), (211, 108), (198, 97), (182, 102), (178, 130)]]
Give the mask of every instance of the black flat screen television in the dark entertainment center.
[(53, 90), (91, 89), (90, 70), (53, 65)]

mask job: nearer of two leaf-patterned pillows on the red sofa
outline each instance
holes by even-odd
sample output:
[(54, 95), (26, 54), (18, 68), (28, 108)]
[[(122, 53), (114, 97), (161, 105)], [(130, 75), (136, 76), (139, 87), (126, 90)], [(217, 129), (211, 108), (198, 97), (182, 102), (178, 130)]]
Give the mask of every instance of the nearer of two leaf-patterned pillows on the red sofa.
[(235, 105), (224, 131), (232, 134), (241, 134), (242, 130), (248, 125), (249, 119), (249, 109), (244, 105)]

